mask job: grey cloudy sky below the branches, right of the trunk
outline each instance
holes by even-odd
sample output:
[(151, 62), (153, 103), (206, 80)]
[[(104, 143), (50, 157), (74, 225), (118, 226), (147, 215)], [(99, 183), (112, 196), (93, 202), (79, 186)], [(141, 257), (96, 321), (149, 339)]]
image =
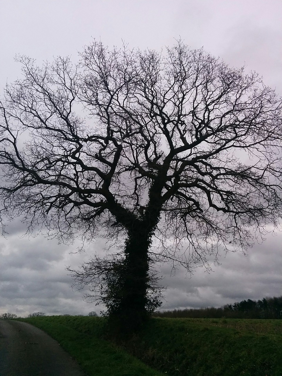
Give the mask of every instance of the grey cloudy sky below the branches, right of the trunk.
[(164, 270), (162, 281), (168, 285), (165, 291), (164, 309), (174, 307), (221, 306), (243, 299), (261, 299), (282, 294), (282, 234), (268, 234), (267, 240), (249, 250), (249, 256), (228, 253), (219, 259), (221, 265), (213, 272), (196, 269), (191, 278), (185, 279), (185, 271), (179, 269), (170, 277), (169, 268)]

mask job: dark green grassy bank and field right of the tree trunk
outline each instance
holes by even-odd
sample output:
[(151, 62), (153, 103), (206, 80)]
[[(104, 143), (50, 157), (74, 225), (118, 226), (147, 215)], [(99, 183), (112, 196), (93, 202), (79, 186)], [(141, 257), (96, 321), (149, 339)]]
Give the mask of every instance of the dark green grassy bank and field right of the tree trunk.
[(143, 332), (135, 355), (144, 358), (150, 353), (149, 363), (171, 376), (282, 375), (277, 320), (154, 321)]

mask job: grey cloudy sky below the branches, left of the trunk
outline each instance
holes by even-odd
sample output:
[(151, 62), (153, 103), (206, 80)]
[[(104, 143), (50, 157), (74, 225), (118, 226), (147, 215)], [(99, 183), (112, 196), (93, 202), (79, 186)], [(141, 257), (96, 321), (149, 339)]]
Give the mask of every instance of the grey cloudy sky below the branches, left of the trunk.
[(95, 307), (83, 302), (82, 292), (73, 291), (73, 280), (66, 265), (79, 267), (95, 252), (103, 252), (104, 241), (87, 248), (89, 254), (74, 253), (79, 240), (72, 246), (58, 245), (42, 235), (19, 237), (18, 233), (0, 239), (0, 312), (27, 315), (34, 311), (48, 314), (88, 314)]

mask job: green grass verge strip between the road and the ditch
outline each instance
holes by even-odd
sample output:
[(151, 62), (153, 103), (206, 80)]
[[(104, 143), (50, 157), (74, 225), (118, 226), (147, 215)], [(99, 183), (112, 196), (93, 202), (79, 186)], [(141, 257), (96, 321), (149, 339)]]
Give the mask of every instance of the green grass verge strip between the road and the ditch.
[(81, 320), (76, 320), (80, 317), (71, 317), (73, 320), (66, 318), (47, 316), (20, 320), (39, 327), (57, 340), (87, 376), (165, 376), (125, 350), (98, 338), (97, 334), (102, 331), (99, 318), (91, 320), (87, 317), (92, 324), (90, 331)]

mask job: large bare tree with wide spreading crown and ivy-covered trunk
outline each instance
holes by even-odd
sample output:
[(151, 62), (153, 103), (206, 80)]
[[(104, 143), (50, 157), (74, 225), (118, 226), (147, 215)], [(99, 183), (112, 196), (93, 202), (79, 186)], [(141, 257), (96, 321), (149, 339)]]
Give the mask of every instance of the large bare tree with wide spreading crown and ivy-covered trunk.
[(117, 315), (146, 317), (150, 262), (209, 268), (277, 224), (282, 105), (258, 74), (181, 41), (164, 54), (93, 42), (76, 67), (18, 60), (24, 79), (1, 106), (2, 214), (63, 239), (125, 238), (88, 275), (123, 268)]

